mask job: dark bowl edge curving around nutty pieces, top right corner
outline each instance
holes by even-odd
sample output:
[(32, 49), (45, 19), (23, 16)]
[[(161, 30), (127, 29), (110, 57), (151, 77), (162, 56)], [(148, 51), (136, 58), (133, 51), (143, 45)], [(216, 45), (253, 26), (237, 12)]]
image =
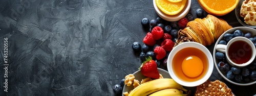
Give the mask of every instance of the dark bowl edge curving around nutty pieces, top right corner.
[(256, 26), (249, 26), (249, 25), (247, 25), (247, 24), (244, 22), (244, 18), (240, 16), (240, 9), (241, 9), (241, 6), (242, 6), (242, 4), (243, 4), (244, 1), (245, 1), (245, 0), (240, 0), (240, 1), (238, 2), (238, 5), (237, 5), (236, 9), (234, 9), (234, 10), (235, 10), (234, 12), (236, 13), (236, 17), (237, 17), (238, 21), (241, 23), (241, 25), (243, 25), (243, 26), (245, 26), (245, 27), (256, 28)]

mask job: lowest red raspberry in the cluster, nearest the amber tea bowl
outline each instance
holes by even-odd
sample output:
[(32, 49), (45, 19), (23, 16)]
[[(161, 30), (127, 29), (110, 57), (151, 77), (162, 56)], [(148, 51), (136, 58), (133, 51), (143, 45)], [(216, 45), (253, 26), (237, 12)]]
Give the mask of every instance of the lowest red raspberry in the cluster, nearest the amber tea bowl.
[(156, 55), (156, 59), (157, 59), (157, 60), (163, 59), (163, 58), (165, 57), (165, 55), (166, 55), (165, 50), (164, 50), (163, 47), (161, 47), (161, 46), (157, 46), (157, 47), (155, 48), (155, 50), (154, 50), (154, 53), (155, 53), (155, 55)]

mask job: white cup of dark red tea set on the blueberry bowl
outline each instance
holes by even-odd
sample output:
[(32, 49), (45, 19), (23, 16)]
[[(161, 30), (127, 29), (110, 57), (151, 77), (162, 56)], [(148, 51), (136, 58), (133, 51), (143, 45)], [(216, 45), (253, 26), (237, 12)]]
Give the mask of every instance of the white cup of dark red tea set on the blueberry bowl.
[(256, 55), (254, 44), (245, 37), (234, 37), (227, 45), (218, 44), (216, 50), (225, 53), (230, 65), (238, 67), (249, 65)]

